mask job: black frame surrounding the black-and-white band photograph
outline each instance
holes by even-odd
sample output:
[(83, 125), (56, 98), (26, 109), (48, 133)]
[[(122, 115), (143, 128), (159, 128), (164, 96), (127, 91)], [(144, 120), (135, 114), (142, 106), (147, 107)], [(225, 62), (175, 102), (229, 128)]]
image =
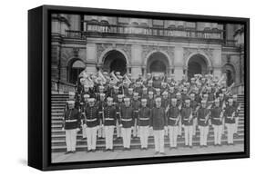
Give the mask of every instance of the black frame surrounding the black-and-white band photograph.
[[(52, 13), (125, 15), (189, 21), (244, 24), (244, 152), (171, 156), (158, 158), (124, 159), (112, 161), (77, 161), (51, 163), (51, 67), (50, 26)], [(155, 12), (110, 10), (85, 7), (42, 5), (28, 11), (28, 165), (42, 171), (81, 168), (155, 164), (180, 161), (209, 161), (250, 157), (250, 19), (211, 15), (182, 15)]]

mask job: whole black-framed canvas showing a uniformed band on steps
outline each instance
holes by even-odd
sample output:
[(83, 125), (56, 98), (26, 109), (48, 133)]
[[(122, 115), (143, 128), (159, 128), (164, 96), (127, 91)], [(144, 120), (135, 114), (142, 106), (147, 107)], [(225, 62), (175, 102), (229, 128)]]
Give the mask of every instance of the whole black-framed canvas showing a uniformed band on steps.
[(28, 165), (250, 156), (250, 20), (43, 5), (28, 11)]

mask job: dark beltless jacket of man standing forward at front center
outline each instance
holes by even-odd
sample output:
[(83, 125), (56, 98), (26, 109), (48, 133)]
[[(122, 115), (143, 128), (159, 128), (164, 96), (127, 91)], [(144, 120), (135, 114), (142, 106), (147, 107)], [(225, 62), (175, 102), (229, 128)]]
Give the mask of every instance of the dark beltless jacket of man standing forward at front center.
[(151, 111), (150, 126), (153, 127), (153, 130), (164, 130), (166, 125), (166, 113), (165, 109), (162, 107), (154, 107)]

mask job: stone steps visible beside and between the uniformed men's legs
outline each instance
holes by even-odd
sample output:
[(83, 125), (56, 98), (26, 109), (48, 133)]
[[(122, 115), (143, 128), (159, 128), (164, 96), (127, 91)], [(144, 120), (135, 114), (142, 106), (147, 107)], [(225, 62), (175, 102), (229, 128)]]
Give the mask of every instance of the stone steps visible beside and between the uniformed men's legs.
[[(67, 93), (52, 93), (51, 103), (52, 103), (52, 120), (51, 120), (51, 130), (52, 130), (52, 152), (66, 152), (66, 142), (65, 142), (65, 132), (61, 129), (62, 115), (65, 107), (65, 103), (68, 99)], [(239, 127), (238, 136), (234, 136), (235, 143), (244, 142), (244, 95), (240, 94), (238, 100), (241, 103), (241, 111), (239, 112)], [(114, 138), (116, 137), (116, 132), (114, 132)], [(184, 146), (184, 131), (182, 130), (182, 136), (178, 139), (178, 147)], [(210, 127), (208, 145), (213, 145), (213, 129)], [(199, 145), (200, 143), (200, 132), (197, 129), (196, 136), (193, 137), (193, 145)], [(227, 136), (222, 136), (222, 143), (227, 143)], [(122, 140), (114, 141), (115, 149), (123, 149)], [(165, 147), (169, 147), (169, 137), (165, 137)], [(105, 139), (97, 139), (97, 149), (103, 150), (105, 148)], [(140, 148), (139, 139), (131, 140), (131, 149)], [(148, 138), (148, 148), (154, 148), (154, 138), (150, 136)], [(77, 151), (87, 150), (87, 140), (82, 140), (82, 133), (77, 133)]]

